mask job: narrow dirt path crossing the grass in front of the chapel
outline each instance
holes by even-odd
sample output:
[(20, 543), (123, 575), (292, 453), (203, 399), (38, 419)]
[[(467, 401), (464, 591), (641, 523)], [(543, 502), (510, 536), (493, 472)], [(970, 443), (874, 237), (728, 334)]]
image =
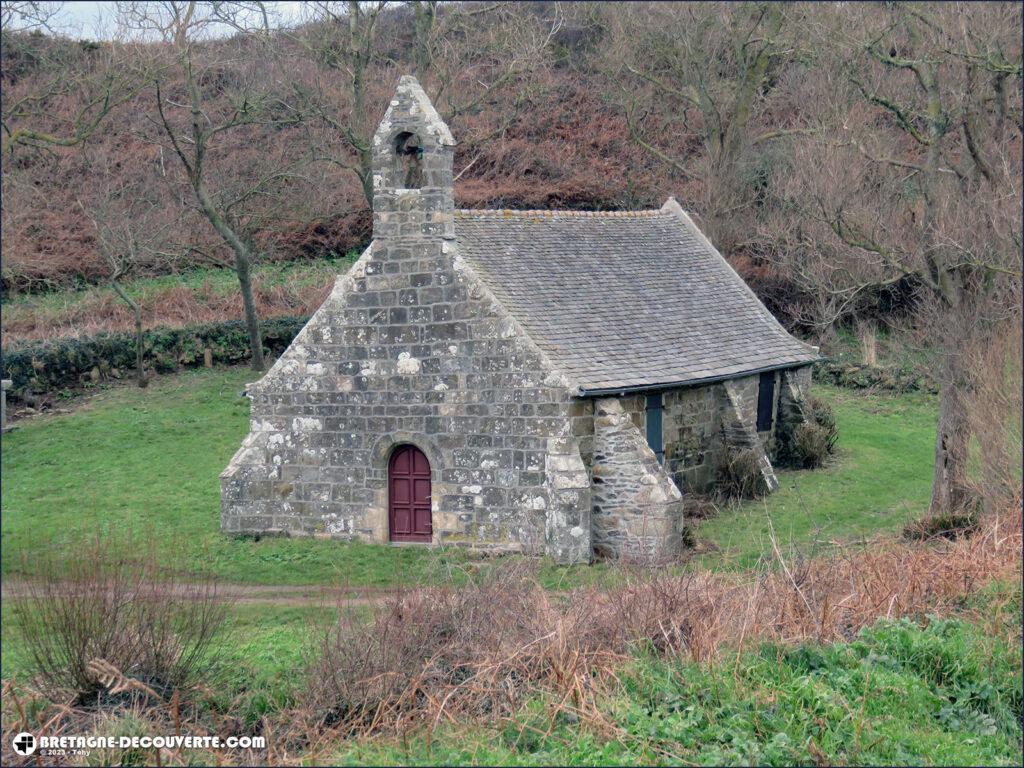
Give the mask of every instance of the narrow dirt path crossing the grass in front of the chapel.
[[(32, 585), (22, 579), (5, 579), (0, 584), (5, 600), (32, 596)], [(170, 595), (187, 597), (186, 584), (165, 585)], [(288, 584), (218, 584), (217, 599), (241, 605), (349, 606), (375, 605), (382, 602), (390, 590), (366, 587), (343, 589), (318, 585)]]

